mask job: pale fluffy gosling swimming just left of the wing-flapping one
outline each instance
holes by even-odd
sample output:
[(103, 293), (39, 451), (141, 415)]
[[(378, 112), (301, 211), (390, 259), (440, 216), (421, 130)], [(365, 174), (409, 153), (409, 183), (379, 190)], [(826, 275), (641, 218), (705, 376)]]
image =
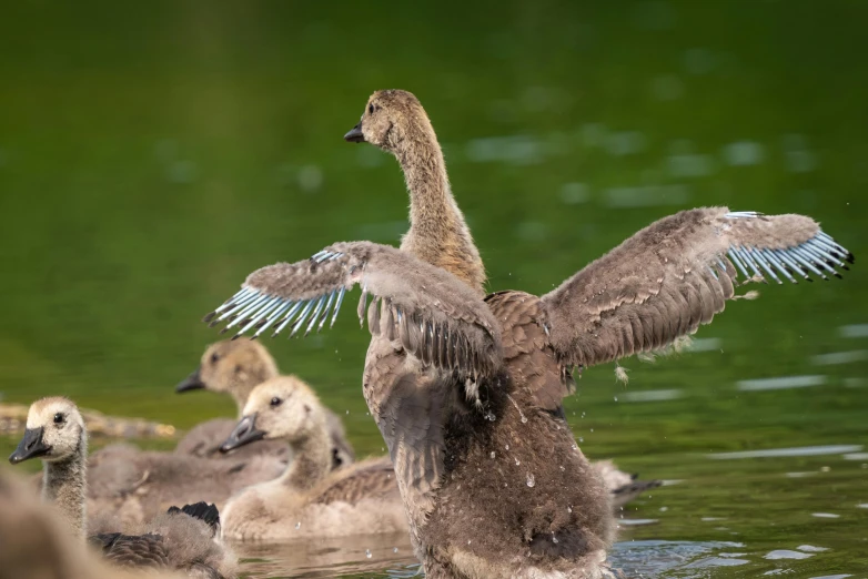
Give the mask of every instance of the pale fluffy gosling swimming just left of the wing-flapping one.
[(224, 537), (291, 540), (408, 530), (388, 457), (332, 470), (326, 420), (316, 395), (293, 376), (253, 389), (221, 449), (283, 440), (294, 458), (280, 478), (245, 488), (226, 502)]

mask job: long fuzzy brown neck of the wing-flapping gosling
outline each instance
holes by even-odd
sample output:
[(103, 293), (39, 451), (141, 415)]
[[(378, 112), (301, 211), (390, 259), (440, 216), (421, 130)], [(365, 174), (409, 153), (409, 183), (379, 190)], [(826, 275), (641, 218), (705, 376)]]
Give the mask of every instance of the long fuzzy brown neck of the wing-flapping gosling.
[(452, 195), (446, 163), (427, 119), (412, 125), (395, 151), (410, 192), (410, 231), (401, 248), (485, 295), (485, 267)]

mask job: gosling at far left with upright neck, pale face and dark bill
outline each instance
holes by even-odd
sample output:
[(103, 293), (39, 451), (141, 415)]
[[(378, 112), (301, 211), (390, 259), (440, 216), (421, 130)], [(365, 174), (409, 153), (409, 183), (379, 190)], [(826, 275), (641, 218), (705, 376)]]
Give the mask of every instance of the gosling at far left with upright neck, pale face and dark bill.
[[(39, 458), (43, 464), (42, 498), (57, 507), (72, 535), (85, 537), (88, 433), (75, 404), (50, 397), (34, 402), (27, 430), (9, 457), (13, 465)], [(109, 561), (122, 566), (155, 567), (186, 572), (189, 577), (225, 578), (235, 575), (234, 555), (213, 539), (219, 514), (204, 502), (169, 511), (137, 535), (100, 534), (89, 540)]]

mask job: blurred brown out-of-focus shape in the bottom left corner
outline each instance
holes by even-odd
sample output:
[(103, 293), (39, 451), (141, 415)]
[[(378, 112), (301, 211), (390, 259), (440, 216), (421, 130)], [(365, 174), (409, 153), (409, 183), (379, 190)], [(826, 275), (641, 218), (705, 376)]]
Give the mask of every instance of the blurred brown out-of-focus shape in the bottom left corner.
[(120, 569), (70, 537), (55, 510), (0, 468), (0, 579), (179, 579), (170, 571)]

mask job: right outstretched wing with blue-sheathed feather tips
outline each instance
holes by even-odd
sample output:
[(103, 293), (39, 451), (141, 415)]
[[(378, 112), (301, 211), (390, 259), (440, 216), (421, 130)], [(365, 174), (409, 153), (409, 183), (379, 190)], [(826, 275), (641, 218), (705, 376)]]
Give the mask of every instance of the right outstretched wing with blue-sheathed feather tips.
[(642, 230), (543, 296), (552, 346), (591, 366), (668, 345), (724, 309), (743, 282), (840, 277), (854, 257), (810, 217), (683, 211)]

